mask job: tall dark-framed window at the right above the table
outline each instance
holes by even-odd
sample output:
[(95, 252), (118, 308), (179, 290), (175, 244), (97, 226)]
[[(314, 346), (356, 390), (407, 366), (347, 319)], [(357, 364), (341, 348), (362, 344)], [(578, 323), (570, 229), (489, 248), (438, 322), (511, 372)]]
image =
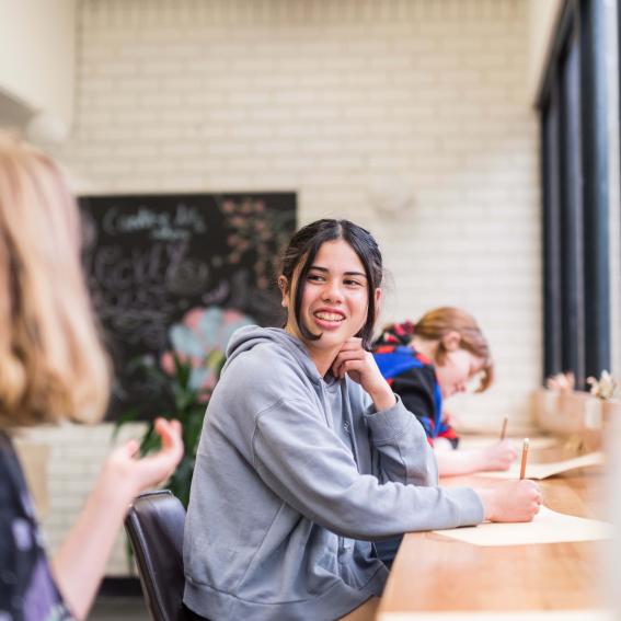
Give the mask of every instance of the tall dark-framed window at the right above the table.
[(568, 0), (540, 97), (544, 377), (610, 365), (603, 0)]

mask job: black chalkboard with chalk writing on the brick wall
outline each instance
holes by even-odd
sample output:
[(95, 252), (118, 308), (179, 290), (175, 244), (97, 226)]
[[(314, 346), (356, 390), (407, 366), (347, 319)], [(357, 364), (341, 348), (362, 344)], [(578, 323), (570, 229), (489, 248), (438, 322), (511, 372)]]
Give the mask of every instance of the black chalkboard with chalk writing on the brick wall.
[[(115, 368), (108, 418), (145, 399), (128, 369), (159, 360), (193, 309), (234, 310), (276, 325), (277, 258), (296, 226), (296, 195), (81, 197), (83, 265)], [(229, 313), (230, 314), (230, 313)]]

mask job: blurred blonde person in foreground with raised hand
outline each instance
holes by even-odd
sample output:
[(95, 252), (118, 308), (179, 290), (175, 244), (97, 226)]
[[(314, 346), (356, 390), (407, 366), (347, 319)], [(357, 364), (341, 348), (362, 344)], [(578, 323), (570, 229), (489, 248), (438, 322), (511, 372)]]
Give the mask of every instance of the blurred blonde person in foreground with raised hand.
[(34, 425), (97, 422), (111, 368), (80, 265), (77, 205), (57, 166), (0, 130), (0, 619), (84, 619), (128, 504), (183, 455), (176, 421), (162, 449), (130, 440), (107, 458), (82, 513), (48, 562), (11, 436)]

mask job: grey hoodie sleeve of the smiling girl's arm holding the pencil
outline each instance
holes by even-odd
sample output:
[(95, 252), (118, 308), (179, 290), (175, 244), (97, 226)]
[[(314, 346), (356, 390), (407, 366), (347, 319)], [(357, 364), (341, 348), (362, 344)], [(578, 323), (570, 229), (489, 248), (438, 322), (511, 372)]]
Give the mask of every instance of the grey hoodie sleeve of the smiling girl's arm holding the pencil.
[(376, 539), (483, 519), (472, 490), (381, 484), (360, 474), (347, 447), (303, 401), (279, 401), (257, 415), (252, 460), (284, 502), (345, 537)]

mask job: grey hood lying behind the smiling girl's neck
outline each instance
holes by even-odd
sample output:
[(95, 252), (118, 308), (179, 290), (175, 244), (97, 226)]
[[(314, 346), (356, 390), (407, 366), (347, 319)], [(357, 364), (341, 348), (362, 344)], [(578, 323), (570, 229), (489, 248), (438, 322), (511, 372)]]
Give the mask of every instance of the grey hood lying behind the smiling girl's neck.
[(322, 378), (310, 357), (309, 350), (299, 338), (296, 338), (281, 327), (261, 327), (258, 325), (244, 325), (233, 332), (227, 345), (227, 364), (222, 372), (226, 372), (227, 367), (244, 352), (271, 343), (284, 347), (287, 354), (303, 368), (309, 379), (313, 382), (321, 381)]

